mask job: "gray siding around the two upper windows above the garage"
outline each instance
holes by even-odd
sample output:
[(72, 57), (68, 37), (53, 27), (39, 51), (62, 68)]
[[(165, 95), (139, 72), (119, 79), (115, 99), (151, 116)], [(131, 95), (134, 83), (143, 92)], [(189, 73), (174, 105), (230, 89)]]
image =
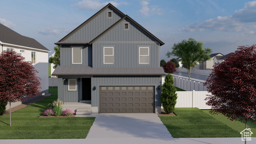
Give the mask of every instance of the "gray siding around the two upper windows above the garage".
[[(104, 64), (103, 47), (114, 46), (114, 64)], [(139, 46), (149, 46), (149, 64), (139, 64)], [(160, 46), (156, 43), (94, 43), (93, 68), (160, 68)]]

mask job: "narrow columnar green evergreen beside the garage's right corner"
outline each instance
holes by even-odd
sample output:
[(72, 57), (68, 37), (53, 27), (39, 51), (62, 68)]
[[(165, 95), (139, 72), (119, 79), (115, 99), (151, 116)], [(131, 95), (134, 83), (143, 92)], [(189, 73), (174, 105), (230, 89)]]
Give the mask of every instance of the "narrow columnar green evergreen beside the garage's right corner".
[(174, 80), (171, 74), (167, 74), (164, 78), (164, 84), (162, 86), (162, 94), (160, 100), (164, 111), (168, 114), (174, 111), (176, 100), (178, 98), (176, 94), (176, 88), (173, 85)]

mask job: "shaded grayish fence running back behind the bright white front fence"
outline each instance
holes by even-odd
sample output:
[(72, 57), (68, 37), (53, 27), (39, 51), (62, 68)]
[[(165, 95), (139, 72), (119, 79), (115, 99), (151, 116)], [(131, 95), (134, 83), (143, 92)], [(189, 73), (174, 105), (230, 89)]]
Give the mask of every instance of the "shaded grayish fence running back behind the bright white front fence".
[[(184, 78), (174, 76), (174, 86), (186, 91), (207, 91), (206, 86), (202, 82), (195, 82)], [(164, 77), (162, 77), (162, 85), (164, 84)]]

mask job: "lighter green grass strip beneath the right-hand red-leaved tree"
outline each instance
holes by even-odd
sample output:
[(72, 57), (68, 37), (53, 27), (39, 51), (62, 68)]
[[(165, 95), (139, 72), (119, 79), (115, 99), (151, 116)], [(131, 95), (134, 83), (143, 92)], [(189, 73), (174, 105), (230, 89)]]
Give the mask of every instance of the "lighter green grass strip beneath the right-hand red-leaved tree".
[[(226, 124), (227, 126), (236, 130), (239, 133), (245, 129), (245, 123), (243, 123), (243, 122), (231, 121), (228, 119), (228, 117), (226, 117), (222, 114), (218, 114), (218, 115), (210, 114), (209, 113), (210, 110), (202, 110), (202, 111), (205, 112), (206, 114), (209, 114), (210, 116), (214, 117), (215, 119), (219, 120), (220, 122)], [(251, 131), (253, 132), (252, 137), (256, 137), (256, 124), (249, 121), (249, 122), (247, 122), (247, 128), (250, 128)]]

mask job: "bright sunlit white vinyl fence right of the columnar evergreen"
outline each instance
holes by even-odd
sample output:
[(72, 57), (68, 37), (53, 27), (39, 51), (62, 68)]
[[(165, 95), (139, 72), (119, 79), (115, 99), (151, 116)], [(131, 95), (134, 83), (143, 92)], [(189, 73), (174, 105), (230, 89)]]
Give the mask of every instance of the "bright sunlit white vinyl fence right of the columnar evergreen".
[(209, 94), (206, 91), (192, 91), (192, 92), (176, 92), (177, 103), (175, 108), (199, 108), (199, 109), (210, 109), (210, 106), (206, 105), (205, 98)]

